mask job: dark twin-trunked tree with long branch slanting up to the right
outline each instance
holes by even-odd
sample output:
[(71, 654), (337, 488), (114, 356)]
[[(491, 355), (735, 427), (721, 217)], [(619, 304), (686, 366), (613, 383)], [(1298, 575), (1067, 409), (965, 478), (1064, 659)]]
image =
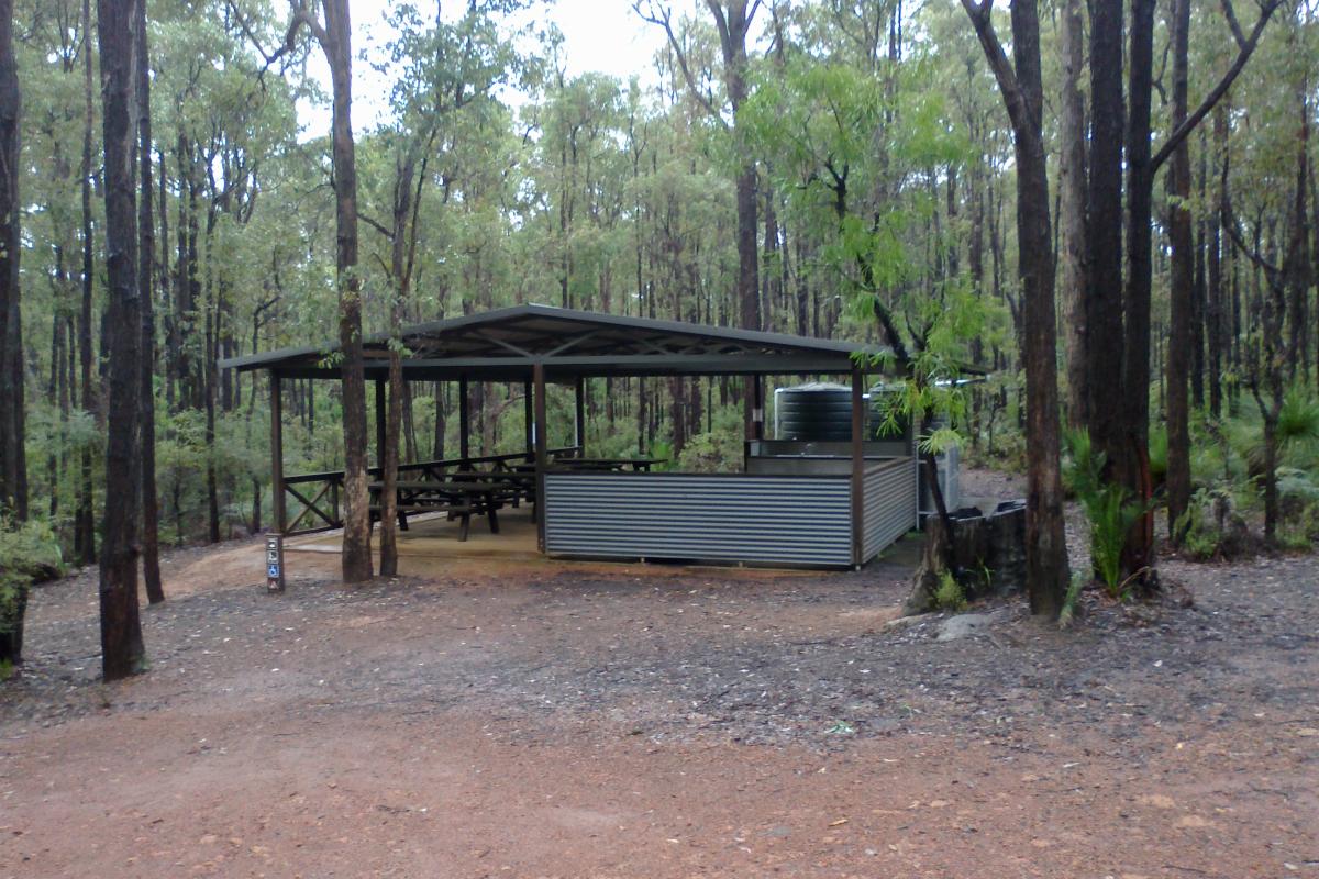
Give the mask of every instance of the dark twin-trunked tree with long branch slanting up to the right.
[[(1086, 326), (1091, 339), (1113, 341), (1087, 348), (1087, 378), (1091, 387), (1088, 428), (1096, 448), (1105, 455), (1111, 470), (1108, 477), (1122, 482), (1141, 502), (1149, 499), (1151, 490), (1148, 439), (1154, 177), (1245, 69), (1269, 18), (1279, 5), (1279, 0), (1261, 3), (1258, 16), (1246, 33), (1231, 0), (1221, 4), (1223, 17), (1236, 42), (1236, 55), (1195, 108), (1186, 112), (1154, 149), (1151, 92), (1155, 80), (1155, 4), (1153, 0), (1137, 0), (1132, 5), (1130, 25), (1125, 29), (1120, 4), (1091, 4), (1092, 127), (1088, 157)], [(1128, 36), (1125, 58), (1121, 42), (1124, 30)], [(1124, 61), (1128, 72), (1125, 101)], [(1125, 273), (1121, 270), (1124, 256)], [(1124, 275), (1120, 287), (1119, 278)], [(1181, 307), (1183, 302), (1179, 297), (1178, 318), (1188, 319), (1190, 315)], [(1174, 360), (1178, 364), (1186, 362), (1181, 347), (1187, 344), (1187, 339), (1174, 333), (1173, 343), (1179, 348)], [(1120, 378), (1112, 381), (1111, 377), (1115, 376)], [(1174, 377), (1178, 382), (1187, 380), (1184, 372)], [(1186, 416), (1186, 407), (1179, 402), (1173, 414), (1178, 419)], [(1170, 439), (1173, 438), (1178, 447), (1169, 448), (1169, 457), (1188, 457), (1188, 431), (1178, 424), (1171, 432)], [(1177, 507), (1184, 506), (1186, 485), (1181, 476), (1175, 480)], [(1153, 584), (1153, 527), (1146, 515), (1128, 536), (1122, 572), (1124, 576), (1136, 576)]]

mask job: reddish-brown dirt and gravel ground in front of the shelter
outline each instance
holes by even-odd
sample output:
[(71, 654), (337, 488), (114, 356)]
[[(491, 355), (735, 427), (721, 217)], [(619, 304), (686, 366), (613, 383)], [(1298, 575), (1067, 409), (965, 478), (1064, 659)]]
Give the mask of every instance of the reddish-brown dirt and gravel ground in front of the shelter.
[[(1076, 543), (1076, 540), (1072, 540)], [(166, 561), (149, 675), (91, 573), (0, 687), (0, 876), (1314, 876), (1319, 563), (1165, 564), (1071, 631), (890, 623), (917, 547), (785, 575)]]

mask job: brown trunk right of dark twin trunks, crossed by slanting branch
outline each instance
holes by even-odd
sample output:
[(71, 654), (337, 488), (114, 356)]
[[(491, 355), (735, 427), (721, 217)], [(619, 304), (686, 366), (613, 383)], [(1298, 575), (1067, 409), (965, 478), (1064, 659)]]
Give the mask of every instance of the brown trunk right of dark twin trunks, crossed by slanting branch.
[[(1186, 121), (1187, 54), (1191, 1), (1173, 4), (1173, 119), (1171, 130)], [(1191, 236), (1191, 149), (1183, 140), (1173, 153), (1167, 179), (1169, 240), (1173, 254), (1167, 335), (1167, 532), (1174, 546), (1182, 540), (1178, 519), (1191, 501), (1190, 386), (1191, 322), (1194, 318), (1194, 260)]]

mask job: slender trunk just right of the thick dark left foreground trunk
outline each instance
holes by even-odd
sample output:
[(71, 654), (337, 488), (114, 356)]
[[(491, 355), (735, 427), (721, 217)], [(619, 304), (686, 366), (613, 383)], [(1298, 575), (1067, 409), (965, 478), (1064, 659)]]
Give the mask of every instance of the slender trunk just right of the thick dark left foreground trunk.
[(142, 584), (146, 600), (165, 601), (161, 585), (160, 503), (156, 494), (156, 308), (153, 260), (156, 217), (152, 181), (152, 86), (146, 49), (146, 0), (137, 0), (135, 21), (137, 42), (137, 162), (141, 191), (137, 202), (137, 295), (142, 311), (141, 431), (142, 431)]

